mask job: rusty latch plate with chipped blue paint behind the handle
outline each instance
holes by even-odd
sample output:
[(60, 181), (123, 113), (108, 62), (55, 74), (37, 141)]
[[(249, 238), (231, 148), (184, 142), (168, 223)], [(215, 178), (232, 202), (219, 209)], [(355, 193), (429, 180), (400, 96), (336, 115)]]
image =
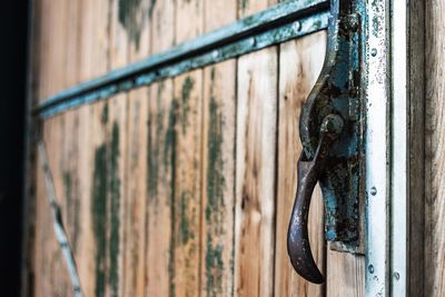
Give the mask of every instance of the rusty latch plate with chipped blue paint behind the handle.
[[(348, 2), (348, 1), (338, 1)], [(305, 103), (300, 118), (304, 154), (313, 158), (319, 127), (329, 113), (344, 120), (344, 129), (330, 151), (319, 178), (326, 201), (325, 231), (338, 248), (354, 250), (359, 238), (358, 196), (363, 177), (360, 112), (360, 26), (357, 13), (340, 7), (329, 20), (328, 53), (322, 75)]]

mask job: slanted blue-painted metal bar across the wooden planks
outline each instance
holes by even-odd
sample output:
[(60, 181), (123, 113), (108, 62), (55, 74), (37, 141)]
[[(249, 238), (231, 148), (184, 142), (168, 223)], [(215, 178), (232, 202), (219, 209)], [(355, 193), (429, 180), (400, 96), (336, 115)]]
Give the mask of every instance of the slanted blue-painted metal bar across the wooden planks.
[(52, 117), (121, 91), (256, 51), (327, 28), (329, 1), (287, 1), (230, 26), (198, 37), (169, 51), (113, 70), (65, 90), (33, 108)]

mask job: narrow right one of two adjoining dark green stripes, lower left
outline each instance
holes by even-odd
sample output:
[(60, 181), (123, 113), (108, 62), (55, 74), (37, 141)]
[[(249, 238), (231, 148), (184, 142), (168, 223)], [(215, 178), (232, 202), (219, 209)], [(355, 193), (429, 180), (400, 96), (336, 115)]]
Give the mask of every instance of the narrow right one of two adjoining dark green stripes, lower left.
[(111, 147), (110, 147), (110, 274), (109, 284), (112, 288), (112, 296), (118, 296), (119, 284), (119, 214), (120, 214), (120, 179), (119, 179), (119, 127), (117, 122), (112, 125)]

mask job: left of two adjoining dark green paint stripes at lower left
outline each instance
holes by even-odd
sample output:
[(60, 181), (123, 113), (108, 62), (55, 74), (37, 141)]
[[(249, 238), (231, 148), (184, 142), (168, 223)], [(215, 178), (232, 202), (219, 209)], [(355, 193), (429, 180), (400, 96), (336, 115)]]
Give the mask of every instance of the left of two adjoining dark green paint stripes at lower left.
[(96, 239), (96, 286), (95, 296), (105, 296), (107, 255), (107, 146), (101, 145), (95, 152), (92, 177), (92, 231)]

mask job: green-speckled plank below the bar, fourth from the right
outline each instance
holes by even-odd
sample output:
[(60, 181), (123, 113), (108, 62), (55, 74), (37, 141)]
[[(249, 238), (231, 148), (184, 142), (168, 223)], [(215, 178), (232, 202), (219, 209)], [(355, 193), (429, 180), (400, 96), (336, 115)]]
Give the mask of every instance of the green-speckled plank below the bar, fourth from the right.
[(200, 281), (202, 70), (175, 80), (175, 293), (197, 296)]

